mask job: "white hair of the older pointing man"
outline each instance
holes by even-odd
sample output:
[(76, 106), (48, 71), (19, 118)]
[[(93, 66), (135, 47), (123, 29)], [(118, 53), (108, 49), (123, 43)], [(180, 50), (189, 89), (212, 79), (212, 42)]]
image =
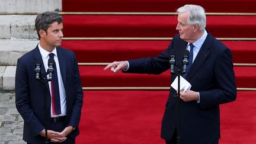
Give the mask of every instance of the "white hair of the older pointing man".
[(188, 24), (199, 24), (200, 30), (206, 27), (206, 14), (200, 5), (184, 5), (177, 9), (178, 13), (188, 12)]

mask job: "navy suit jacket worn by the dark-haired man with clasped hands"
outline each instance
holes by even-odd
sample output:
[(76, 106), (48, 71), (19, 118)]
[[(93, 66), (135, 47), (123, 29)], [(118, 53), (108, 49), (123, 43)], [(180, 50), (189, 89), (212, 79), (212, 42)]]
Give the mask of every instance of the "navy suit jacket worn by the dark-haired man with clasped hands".
[[(78, 124), (84, 97), (78, 63), (76, 62), (75, 53), (71, 50), (61, 47), (56, 49), (66, 92), (66, 125), (75, 127), (75, 130), (69, 134), (70, 138), (75, 138), (79, 134)], [(24, 119), (23, 139), (30, 143), (43, 143), (44, 138), (39, 136), (39, 133), (45, 125), (44, 84), (36, 80), (36, 74), (34, 73), (36, 59), (39, 59), (41, 71), (45, 73), (38, 46), (18, 59), (15, 76), (15, 103), (18, 112)], [(45, 93), (47, 95), (47, 114), (50, 114), (48, 84)]]

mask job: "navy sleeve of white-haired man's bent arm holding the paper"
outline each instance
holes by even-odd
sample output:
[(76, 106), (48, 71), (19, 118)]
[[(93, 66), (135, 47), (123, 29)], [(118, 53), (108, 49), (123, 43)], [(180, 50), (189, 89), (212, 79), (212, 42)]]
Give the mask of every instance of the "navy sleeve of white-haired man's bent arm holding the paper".
[(236, 99), (235, 73), (232, 54), (224, 50), (217, 58), (215, 66), (216, 89), (200, 91), (200, 107), (228, 103)]

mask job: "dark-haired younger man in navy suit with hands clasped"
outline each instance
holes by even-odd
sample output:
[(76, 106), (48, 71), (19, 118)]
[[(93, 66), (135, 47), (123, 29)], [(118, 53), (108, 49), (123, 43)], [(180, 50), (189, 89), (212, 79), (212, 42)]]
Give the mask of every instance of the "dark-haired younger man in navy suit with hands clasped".
[[(63, 37), (60, 15), (44, 12), (35, 22), (40, 42), (18, 59), (15, 76), (15, 103), (24, 119), (23, 139), (27, 143), (44, 143), (47, 124), (49, 143), (75, 143), (84, 97), (75, 53), (59, 47)], [(48, 62), (54, 68), (52, 81), (43, 83), (36, 79), (35, 63), (40, 63), (45, 75), (51, 66)]]

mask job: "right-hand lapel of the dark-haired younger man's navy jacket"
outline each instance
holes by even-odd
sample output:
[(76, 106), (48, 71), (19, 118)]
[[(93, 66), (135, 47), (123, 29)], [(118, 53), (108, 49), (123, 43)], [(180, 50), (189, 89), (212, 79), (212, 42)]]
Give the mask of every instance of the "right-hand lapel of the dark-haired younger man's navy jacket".
[(60, 73), (62, 75), (62, 81), (63, 84), (66, 84), (66, 62), (65, 62), (65, 57), (64, 57), (64, 53), (62, 52), (62, 50), (59, 47), (56, 47), (57, 49), (57, 57), (59, 60), (59, 66), (60, 66)]

